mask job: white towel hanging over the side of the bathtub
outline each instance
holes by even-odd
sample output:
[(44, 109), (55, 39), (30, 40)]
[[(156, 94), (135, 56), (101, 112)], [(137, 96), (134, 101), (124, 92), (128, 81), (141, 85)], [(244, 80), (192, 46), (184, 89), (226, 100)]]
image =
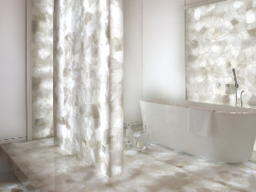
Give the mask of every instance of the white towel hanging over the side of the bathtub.
[(213, 112), (205, 108), (189, 107), (189, 132), (209, 136)]

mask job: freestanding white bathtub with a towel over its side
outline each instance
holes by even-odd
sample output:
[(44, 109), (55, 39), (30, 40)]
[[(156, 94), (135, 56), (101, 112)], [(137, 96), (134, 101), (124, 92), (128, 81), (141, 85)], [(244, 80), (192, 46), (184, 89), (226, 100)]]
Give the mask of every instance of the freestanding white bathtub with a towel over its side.
[[(140, 104), (143, 123), (147, 125), (153, 143), (225, 163), (251, 159), (256, 135), (256, 110), (163, 99), (142, 100)], [(190, 106), (217, 111), (213, 112), (209, 137), (189, 133)]]

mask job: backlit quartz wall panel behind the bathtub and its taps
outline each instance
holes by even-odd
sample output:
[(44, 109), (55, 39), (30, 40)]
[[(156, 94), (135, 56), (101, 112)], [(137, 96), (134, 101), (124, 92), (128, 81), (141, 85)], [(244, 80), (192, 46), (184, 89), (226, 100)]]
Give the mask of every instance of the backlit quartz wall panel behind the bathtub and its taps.
[(234, 68), (238, 105), (240, 91), (245, 91), (243, 105), (256, 107), (255, 15), (255, 0), (228, 0), (186, 11), (187, 100), (234, 105)]

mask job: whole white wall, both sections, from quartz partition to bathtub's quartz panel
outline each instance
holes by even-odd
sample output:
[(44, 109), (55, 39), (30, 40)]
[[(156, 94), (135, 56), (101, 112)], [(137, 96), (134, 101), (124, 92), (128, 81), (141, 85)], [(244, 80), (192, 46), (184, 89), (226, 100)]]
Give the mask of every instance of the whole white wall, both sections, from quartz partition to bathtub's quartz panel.
[(185, 0), (124, 0), (124, 123), (142, 121), (142, 98), (186, 99), (183, 5)]

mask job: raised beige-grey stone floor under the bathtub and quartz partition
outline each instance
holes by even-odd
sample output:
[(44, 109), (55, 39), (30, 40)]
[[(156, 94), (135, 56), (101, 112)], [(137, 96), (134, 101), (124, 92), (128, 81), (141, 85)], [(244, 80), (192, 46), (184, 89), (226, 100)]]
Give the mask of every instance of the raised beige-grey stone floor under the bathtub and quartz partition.
[(40, 191), (256, 191), (254, 152), (248, 162), (224, 164), (152, 144), (143, 153), (125, 150), (123, 175), (109, 178), (65, 154), (53, 138), (2, 150)]

